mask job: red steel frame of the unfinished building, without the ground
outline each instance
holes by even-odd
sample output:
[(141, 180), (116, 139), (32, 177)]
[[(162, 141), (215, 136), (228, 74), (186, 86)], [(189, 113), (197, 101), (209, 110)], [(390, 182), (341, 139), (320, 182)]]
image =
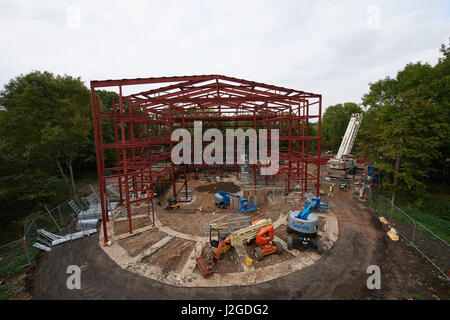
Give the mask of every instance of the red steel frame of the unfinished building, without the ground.
[[(145, 84), (161, 87), (128, 96), (122, 94), (125, 86)], [(100, 99), (95, 94), (96, 89), (105, 87), (118, 87), (119, 90), (119, 98), (112, 101), (112, 110), (108, 112), (101, 110)], [(280, 166), (276, 175), (285, 182), (285, 194), (291, 190), (291, 181), (300, 184), (302, 198), (308, 181), (316, 181), (316, 193), (319, 194), (320, 165), (327, 160), (320, 156), (320, 94), (222, 75), (201, 75), (91, 81), (91, 98), (105, 243), (108, 242), (107, 180), (117, 181), (121, 197), (125, 191), (130, 233), (133, 232), (132, 203), (148, 201), (149, 215), (155, 223), (153, 197), (158, 185), (171, 183), (174, 196), (184, 189), (187, 197), (188, 174), (195, 165), (176, 166), (171, 162), (174, 142), (170, 137), (176, 128), (192, 129), (194, 121), (202, 121), (203, 131), (211, 127), (266, 128), (267, 139), (270, 139), (270, 129), (279, 129)], [(317, 136), (309, 135), (310, 120), (318, 122)], [(115, 141), (104, 141), (102, 128), (108, 125), (114, 127)], [(314, 150), (310, 148), (311, 141), (317, 141)], [(287, 142), (287, 150), (281, 150), (283, 142)], [(115, 153), (115, 167), (105, 168), (107, 150)], [(309, 164), (316, 165), (316, 176), (308, 173)], [(222, 169), (224, 166), (219, 165)], [(256, 184), (261, 165), (252, 166)], [(234, 170), (239, 175), (237, 165)], [(180, 181), (180, 177), (182, 186), (177, 190), (176, 181)], [(266, 176), (266, 184), (268, 180)], [(123, 204), (122, 198), (120, 201)]]

